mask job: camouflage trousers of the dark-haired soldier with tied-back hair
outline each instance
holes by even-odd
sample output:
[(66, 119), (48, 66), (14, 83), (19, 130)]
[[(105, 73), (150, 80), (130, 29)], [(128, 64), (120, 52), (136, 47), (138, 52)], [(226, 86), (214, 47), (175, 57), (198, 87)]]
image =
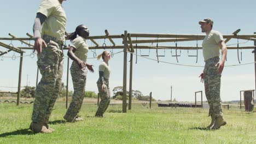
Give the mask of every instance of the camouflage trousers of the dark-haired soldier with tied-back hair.
[(66, 112), (66, 117), (74, 119), (83, 104), (87, 70), (82, 70), (77, 62), (73, 61), (70, 71), (73, 80), (74, 94), (72, 95), (72, 101)]

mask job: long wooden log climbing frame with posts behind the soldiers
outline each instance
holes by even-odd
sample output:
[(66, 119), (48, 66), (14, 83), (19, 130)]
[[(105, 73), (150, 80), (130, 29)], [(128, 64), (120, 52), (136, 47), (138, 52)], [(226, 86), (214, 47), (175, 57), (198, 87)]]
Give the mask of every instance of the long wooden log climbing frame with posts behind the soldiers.
[[(256, 41), (256, 34), (242, 34), (237, 35), (237, 33), (240, 32), (240, 29), (237, 29), (232, 34), (223, 35), (223, 38), (225, 39), (225, 42), (228, 42), (230, 39), (242, 39), (242, 40), (252, 40)], [(129, 91), (131, 92), (132, 89), (132, 54), (135, 52), (134, 49), (174, 49), (176, 50), (176, 58), (178, 62), (178, 55), (177, 50), (200, 50), (202, 49), (201, 46), (177, 46), (177, 42), (179, 41), (197, 41), (197, 40), (203, 40), (205, 38), (204, 34), (146, 34), (146, 33), (128, 33), (127, 31), (124, 31), (124, 34), (118, 34), (118, 35), (109, 35), (108, 31), (105, 30), (104, 33), (106, 35), (98, 35), (98, 36), (90, 36), (88, 39), (91, 40), (92, 43), (95, 44), (95, 46), (89, 47), (90, 50), (97, 50), (97, 49), (123, 49), (124, 52), (124, 71), (123, 71), (123, 112), (126, 112), (126, 83), (127, 83), (127, 52), (131, 53), (131, 61), (130, 61), (130, 88)], [(18, 38), (13, 34), (9, 34), (11, 38), (0, 38), (0, 40), (19, 40), (24, 44), (27, 44), (27, 47), (14, 47), (13, 45), (10, 46), (8, 44), (2, 43), (0, 41), (0, 46), (5, 47), (8, 49), (8, 51), (0, 51), (0, 56), (10, 52), (15, 51), (20, 53), (20, 70), (19, 70), (19, 83), (18, 83), (18, 96), (17, 96), (17, 105), (19, 105), (19, 99), (20, 99), (20, 83), (21, 83), (21, 72), (22, 72), (22, 56), (25, 52), (24, 50), (32, 50), (34, 49), (33, 45), (30, 43), (27, 43), (26, 40), (34, 40), (33, 36), (31, 34), (26, 34), (28, 38)], [(143, 39), (147, 38), (147, 39)], [(108, 39), (110, 43), (113, 44), (113, 46), (106, 46), (106, 44), (98, 44), (96, 40), (105, 40)], [(123, 40), (123, 43), (121, 45), (117, 45), (114, 42), (114, 39), (121, 39)], [(69, 40), (66, 38), (66, 40)], [(150, 44), (150, 43), (167, 43), (167, 42), (174, 42), (176, 43), (176, 46), (148, 46), (148, 45), (137, 45), (137, 44)], [(136, 45), (136, 46), (135, 46)], [(236, 49), (253, 49), (254, 51), (254, 58), (256, 61), (256, 42), (254, 46), (242, 46), (242, 47), (227, 47), (230, 50), (236, 50)], [(67, 50), (68, 47), (64, 47), (64, 50)], [(137, 55), (136, 55), (137, 56)], [(160, 56), (157, 53), (157, 57)], [(38, 73), (38, 71), (37, 71)], [(256, 75), (256, 63), (255, 63), (255, 75)], [(37, 76), (38, 77), (38, 76)], [(67, 83), (68, 83), (68, 77), (67, 77)], [(255, 76), (255, 83), (256, 83), (256, 76)], [(66, 94), (67, 95), (67, 94)], [(66, 101), (67, 103), (67, 101)], [(66, 105), (67, 106), (67, 105)], [(131, 109), (131, 93), (129, 93), (129, 110)]]

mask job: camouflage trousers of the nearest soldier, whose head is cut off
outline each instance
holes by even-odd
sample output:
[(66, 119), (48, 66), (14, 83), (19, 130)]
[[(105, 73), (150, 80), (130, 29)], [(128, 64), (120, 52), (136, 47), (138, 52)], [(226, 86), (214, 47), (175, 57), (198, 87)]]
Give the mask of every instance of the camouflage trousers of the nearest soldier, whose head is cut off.
[(37, 57), (42, 78), (36, 88), (31, 119), (34, 123), (47, 124), (61, 88), (64, 55), (61, 44), (48, 35), (42, 38), (47, 47), (43, 46), (42, 53)]

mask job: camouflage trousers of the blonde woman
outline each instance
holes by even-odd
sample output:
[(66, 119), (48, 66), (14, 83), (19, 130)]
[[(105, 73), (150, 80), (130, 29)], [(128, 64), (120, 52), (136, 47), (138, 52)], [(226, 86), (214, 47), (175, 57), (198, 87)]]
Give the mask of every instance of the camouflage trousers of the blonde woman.
[(98, 105), (98, 110), (96, 114), (103, 115), (103, 113), (108, 109), (108, 105), (110, 103), (110, 89), (109, 89), (109, 81), (108, 79), (104, 79), (106, 87), (104, 87), (104, 91), (101, 91), (102, 83), (100, 79), (97, 81), (98, 93), (100, 94), (101, 102)]

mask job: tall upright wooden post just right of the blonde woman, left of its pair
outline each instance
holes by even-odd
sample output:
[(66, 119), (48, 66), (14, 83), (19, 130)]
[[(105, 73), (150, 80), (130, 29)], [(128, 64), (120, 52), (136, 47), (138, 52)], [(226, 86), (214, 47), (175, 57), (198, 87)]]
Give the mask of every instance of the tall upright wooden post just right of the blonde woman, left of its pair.
[(126, 79), (127, 79), (127, 31), (124, 31), (124, 76), (123, 76), (123, 113), (126, 113)]

